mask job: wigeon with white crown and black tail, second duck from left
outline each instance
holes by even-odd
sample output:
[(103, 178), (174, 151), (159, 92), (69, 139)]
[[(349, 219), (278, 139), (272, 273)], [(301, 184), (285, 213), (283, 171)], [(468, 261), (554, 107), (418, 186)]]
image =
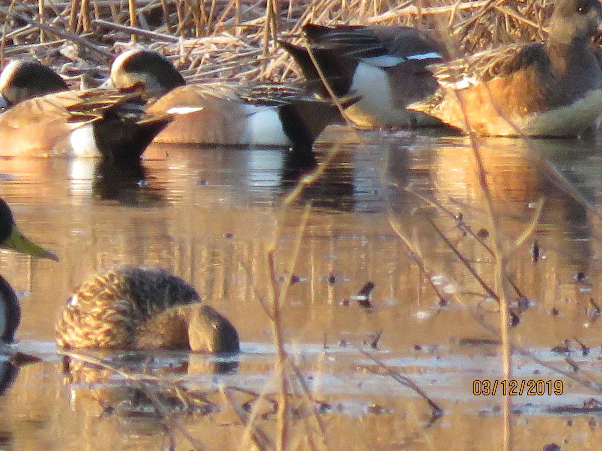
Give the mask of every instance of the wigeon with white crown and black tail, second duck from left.
[[(116, 88), (144, 84), (161, 96), (148, 106), (149, 114), (184, 113), (159, 133), (155, 142), (224, 146), (292, 147), (311, 151), (320, 132), (338, 117), (336, 106), (313, 98), (261, 98), (241, 96), (240, 88), (223, 83), (185, 85), (163, 55), (131, 50), (111, 65)], [(344, 105), (354, 102), (346, 99)], [(200, 111), (185, 114), (191, 108)]]

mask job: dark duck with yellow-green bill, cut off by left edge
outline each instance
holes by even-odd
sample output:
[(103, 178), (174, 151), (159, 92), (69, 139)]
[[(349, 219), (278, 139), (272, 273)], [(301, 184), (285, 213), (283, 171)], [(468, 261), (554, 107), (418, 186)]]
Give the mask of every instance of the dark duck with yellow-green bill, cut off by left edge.
[[(23, 236), (14, 222), (13, 212), (0, 198), (0, 248), (17, 251), (32, 257), (58, 261), (56, 254)], [(21, 320), (19, 298), (13, 287), (0, 275), (0, 341), (13, 343)]]

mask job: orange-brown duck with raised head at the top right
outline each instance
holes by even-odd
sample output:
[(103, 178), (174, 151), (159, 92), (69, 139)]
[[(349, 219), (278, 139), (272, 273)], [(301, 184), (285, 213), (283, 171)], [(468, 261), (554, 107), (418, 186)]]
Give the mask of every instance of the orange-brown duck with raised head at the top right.
[(592, 47), (597, 0), (557, 0), (545, 43), (518, 43), (427, 69), (439, 83), (409, 109), (491, 137), (573, 138), (602, 113), (602, 70)]

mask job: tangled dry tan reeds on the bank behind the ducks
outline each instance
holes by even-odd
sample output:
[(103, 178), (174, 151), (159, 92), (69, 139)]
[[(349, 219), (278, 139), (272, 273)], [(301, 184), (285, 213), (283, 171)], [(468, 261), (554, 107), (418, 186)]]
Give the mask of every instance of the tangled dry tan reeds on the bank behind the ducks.
[(542, 40), (545, 0), (13, 0), (0, 7), (0, 58), (34, 54), (63, 75), (106, 70), (132, 41), (173, 57), (189, 79), (295, 82), (275, 43), (304, 23), (379, 23), (438, 29), (452, 54)]

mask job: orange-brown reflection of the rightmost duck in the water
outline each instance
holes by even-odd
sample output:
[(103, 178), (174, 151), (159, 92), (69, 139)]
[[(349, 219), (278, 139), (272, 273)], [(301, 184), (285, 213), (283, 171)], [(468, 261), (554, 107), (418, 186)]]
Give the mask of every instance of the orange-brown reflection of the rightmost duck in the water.
[[(566, 238), (554, 243), (576, 271), (592, 261), (592, 206), (600, 202), (594, 188), (599, 171), (588, 159), (598, 152), (591, 143), (577, 140), (513, 140), (486, 138), (477, 148), (495, 213), (503, 221), (504, 236), (520, 236), (533, 219), (532, 206), (544, 200), (539, 218), (544, 230), (563, 228)], [(474, 230), (486, 227), (480, 215), (485, 195), (480, 188), (474, 150), (464, 138), (445, 139), (433, 148), (430, 172), (436, 200), (453, 212), (461, 212)], [(549, 233), (549, 232), (547, 232)], [(526, 263), (527, 264), (527, 263)], [(530, 264), (530, 263), (529, 263)], [(529, 266), (530, 268), (530, 266)], [(530, 274), (525, 269), (524, 274)]]

